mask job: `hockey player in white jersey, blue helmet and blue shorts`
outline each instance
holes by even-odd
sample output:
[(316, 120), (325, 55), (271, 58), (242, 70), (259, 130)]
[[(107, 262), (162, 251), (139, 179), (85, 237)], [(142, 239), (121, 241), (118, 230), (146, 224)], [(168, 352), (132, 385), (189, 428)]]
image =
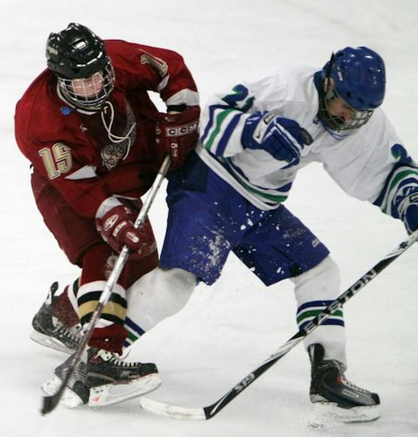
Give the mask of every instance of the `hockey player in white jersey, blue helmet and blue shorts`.
[[(283, 205), (309, 163), (323, 163), (346, 193), (401, 219), (408, 232), (418, 228), (418, 169), (379, 108), (385, 83), (380, 55), (346, 47), (319, 71), (275, 71), (209, 99), (196, 153), (169, 181), (160, 268), (129, 300), (132, 338), (181, 309), (197, 282), (213, 284), (230, 251), (266, 285), (293, 281), (300, 327), (329, 305), (340, 294), (338, 267)], [(312, 402), (344, 421), (380, 416), (379, 396), (344, 376), (342, 311), (305, 347)]]

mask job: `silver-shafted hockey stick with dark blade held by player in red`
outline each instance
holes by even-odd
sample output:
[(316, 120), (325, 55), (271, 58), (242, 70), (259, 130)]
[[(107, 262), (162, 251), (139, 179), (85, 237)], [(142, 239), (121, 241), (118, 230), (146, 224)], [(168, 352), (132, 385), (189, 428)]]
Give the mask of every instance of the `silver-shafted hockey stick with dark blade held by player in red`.
[[(135, 220), (134, 226), (135, 228), (139, 228), (145, 222), (145, 219), (148, 215), (148, 212), (150, 211), (151, 205), (154, 201), (155, 196), (157, 195), (158, 190), (160, 189), (161, 183), (164, 180), (165, 175), (167, 174), (168, 167), (171, 164), (171, 157), (167, 155), (164, 159), (164, 162), (162, 163), (160, 170), (158, 171), (158, 174), (150, 188), (150, 192), (148, 193), (146, 200), (139, 211), (138, 217)], [(103, 291), (101, 292), (98, 305), (96, 309), (93, 312), (93, 315), (91, 316), (90, 320), (90, 326), (88, 331), (85, 333), (83, 339), (80, 341), (77, 350), (75, 351), (73, 355), (73, 359), (71, 360), (70, 367), (68, 369), (68, 372), (65, 375), (65, 378), (59, 388), (59, 390), (52, 396), (43, 396), (42, 399), (42, 409), (41, 413), (42, 415), (51, 413), (53, 409), (58, 405), (59, 400), (61, 399), (64, 390), (66, 388), (66, 385), (70, 381), (71, 377), (73, 376), (74, 370), (76, 368), (76, 365), (78, 361), (80, 361), (81, 355), (83, 354), (84, 350), (87, 347), (87, 344), (91, 338), (91, 335), (94, 330), (94, 326), (96, 325), (96, 322), (101, 316), (101, 313), (103, 312), (104, 306), (107, 304), (108, 300), (111, 297), (111, 293), (113, 290), (113, 287), (118, 280), (120, 274), (122, 273), (123, 267), (125, 267), (126, 261), (128, 260), (130, 250), (127, 246), (123, 246), (121, 252), (119, 253), (118, 259), (115, 262), (115, 266), (113, 267), (113, 270), (111, 271), (111, 274), (109, 275), (109, 278), (104, 286)]]

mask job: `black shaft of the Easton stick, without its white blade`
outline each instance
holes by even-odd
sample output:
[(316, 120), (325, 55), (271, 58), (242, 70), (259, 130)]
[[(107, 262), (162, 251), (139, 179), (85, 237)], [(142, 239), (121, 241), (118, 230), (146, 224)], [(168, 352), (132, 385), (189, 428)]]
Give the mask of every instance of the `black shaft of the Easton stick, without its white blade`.
[(275, 354), (268, 357), (262, 364), (255, 368), (245, 378), (235, 385), (222, 398), (214, 402), (212, 405), (203, 408), (206, 419), (211, 419), (221, 409), (228, 405), (240, 393), (242, 393), (250, 384), (252, 384), (258, 377), (260, 377), (266, 370), (272, 367), (277, 361), (284, 357), (289, 350), (293, 349), (300, 341), (308, 336), (314, 329), (316, 329), (324, 320), (326, 320), (333, 312), (337, 311), (341, 306), (358, 293), (366, 284), (372, 281), (380, 272), (382, 272), (389, 264), (397, 259), (402, 253), (412, 246), (418, 239), (418, 230), (413, 232), (408, 240), (402, 242), (396, 249), (388, 253), (386, 257), (380, 260), (373, 266), (366, 274), (364, 274), (358, 281), (356, 281), (350, 288), (342, 293), (337, 299), (327, 306), (318, 316), (311, 320), (303, 329), (300, 329), (292, 338), (280, 347)]

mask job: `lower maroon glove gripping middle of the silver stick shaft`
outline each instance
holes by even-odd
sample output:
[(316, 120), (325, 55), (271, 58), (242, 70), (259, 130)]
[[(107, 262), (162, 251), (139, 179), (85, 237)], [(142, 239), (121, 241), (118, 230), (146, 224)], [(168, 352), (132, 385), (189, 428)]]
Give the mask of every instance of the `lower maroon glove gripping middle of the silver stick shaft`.
[(135, 217), (131, 208), (118, 205), (102, 218), (96, 218), (96, 228), (113, 250), (120, 252), (126, 244), (140, 257), (145, 257), (155, 250), (155, 240), (150, 222), (146, 221), (139, 229), (135, 229)]

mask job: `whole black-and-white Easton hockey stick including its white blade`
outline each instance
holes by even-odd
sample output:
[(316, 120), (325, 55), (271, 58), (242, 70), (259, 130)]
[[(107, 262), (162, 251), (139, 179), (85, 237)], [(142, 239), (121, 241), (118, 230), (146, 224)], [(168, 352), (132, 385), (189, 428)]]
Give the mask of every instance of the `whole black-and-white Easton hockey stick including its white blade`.
[(141, 407), (153, 414), (160, 416), (174, 417), (175, 419), (191, 419), (191, 420), (206, 420), (215, 416), (223, 407), (228, 405), (241, 392), (243, 392), (251, 383), (253, 383), (259, 376), (261, 376), (267, 369), (272, 367), (277, 361), (284, 357), (289, 350), (293, 349), (300, 341), (308, 336), (314, 329), (316, 329), (324, 320), (326, 320), (333, 312), (337, 311), (345, 302), (351, 299), (357, 292), (359, 292), (366, 284), (374, 279), (377, 274), (383, 271), (389, 264), (391, 264), (397, 257), (412, 246), (418, 239), (418, 230), (413, 232), (409, 238), (402, 242), (396, 249), (392, 250), (382, 260), (380, 260), (374, 267), (372, 267), (366, 274), (364, 274), (358, 281), (356, 281), (350, 288), (342, 293), (337, 299), (327, 306), (318, 316), (311, 320), (304, 328), (300, 329), (292, 338), (280, 347), (277, 352), (270, 355), (263, 363), (255, 368), (251, 373), (245, 376), (237, 385), (230, 389), (225, 395), (218, 399), (213, 404), (203, 408), (186, 408), (180, 406), (170, 405), (164, 402), (154, 401), (152, 399), (141, 398)]

